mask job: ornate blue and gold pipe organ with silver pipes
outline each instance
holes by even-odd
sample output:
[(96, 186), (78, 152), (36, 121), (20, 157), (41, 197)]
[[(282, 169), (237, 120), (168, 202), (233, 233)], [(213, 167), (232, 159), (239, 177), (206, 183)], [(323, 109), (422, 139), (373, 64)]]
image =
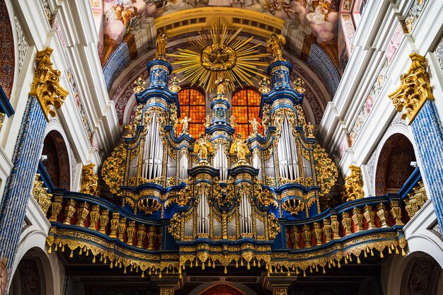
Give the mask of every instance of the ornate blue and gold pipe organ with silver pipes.
[(263, 91), (260, 107), (265, 132), (254, 127), (244, 139), (234, 137), (226, 119), (230, 103), (224, 91), (212, 98), (213, 114), (200, 139), (185, 127), (176, 130), (180, 105), (177, 93), (166, 88), (172, 67), (154, 60), (147, 69), (149, 86), (136, 94), (139, 106), (125, 142), (104, 164), (108, 170), (115, 163), (124, 167), (115, 167), (108, 185), (125, 209), (168, 220), (164, 232), (179, 248), (212, 241), (251, 245), (254, 255), (260, 255), (254, 241), (267, 251), (284, 234), (278, 218), (320, 213), (319, 201), (335, 182), (336, 168), (306, 124), (304, 94), (289, 85), (291, 64), (276, 61), (268, 67), (272, 88)]

